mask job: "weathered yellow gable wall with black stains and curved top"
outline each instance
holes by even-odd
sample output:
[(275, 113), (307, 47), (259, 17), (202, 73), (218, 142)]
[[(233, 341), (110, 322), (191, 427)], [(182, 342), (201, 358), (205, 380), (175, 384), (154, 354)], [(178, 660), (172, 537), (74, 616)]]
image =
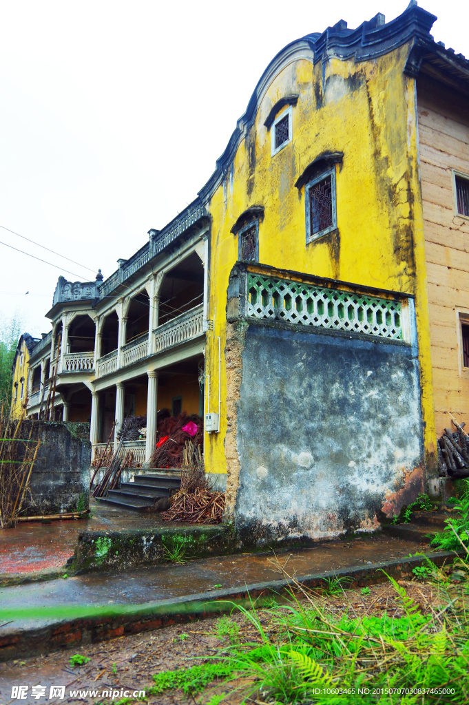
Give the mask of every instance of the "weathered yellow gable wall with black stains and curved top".
[[(205, 439), (206, 470), (226, 472), (226, 288), (238, 257), (230, 233), (238, 216), (264, 206), (259, 259), (284, 269), (415, 293), (422, 382), (425, 446), (434, 454), (432, 369), (425, 289), (425, 243), (418, 180), (415, 81), (403, 74), (408, 47), (374, 61), (354, 63), (298, 59), (283, 68), (262, 98), (255, 123), (236, 152), (231, 170), (214, 193), (207, 333), (210, 408), (218, 409), (221, 341), (221, 429)], [(271, 132), (264, 121), (288, 94), (293, 106), (293, 141), (271, 157)], [(278, 115), (287, 108), (279, 111)], [(278, 116), (277, 115), (277, 116)], [(343, 152), (336, 167), (335, 233), (305, 244), (304, 187), (295, 182), (322, 152)], [(423, 286), (420, 286), (419, 283)], [(205, 401), (207, 407), (207, 399)], [(268, 429), (266, 429), (268, 432)]]

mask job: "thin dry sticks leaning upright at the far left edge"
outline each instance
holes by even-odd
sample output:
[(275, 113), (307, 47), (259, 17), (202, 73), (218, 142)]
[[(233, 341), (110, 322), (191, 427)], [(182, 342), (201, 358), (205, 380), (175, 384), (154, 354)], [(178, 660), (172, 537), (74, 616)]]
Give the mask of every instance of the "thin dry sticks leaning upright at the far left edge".
[(39, 450), (39, 424), (0, 411), (0, 526), (16, 524), (29, 490), (32, 467)]

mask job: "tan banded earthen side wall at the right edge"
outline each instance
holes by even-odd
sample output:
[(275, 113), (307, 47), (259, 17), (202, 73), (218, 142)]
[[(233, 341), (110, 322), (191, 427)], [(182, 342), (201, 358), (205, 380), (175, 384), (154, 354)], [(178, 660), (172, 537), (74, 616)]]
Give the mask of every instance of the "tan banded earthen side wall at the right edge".
[(469, 317), (469, 219), (456, 215), (453, 169), (469, 176), (468, 99), (421, 75), (417, 82), (420, 177), (437, 434), (451, 412), (469, 423), (460, 315)]

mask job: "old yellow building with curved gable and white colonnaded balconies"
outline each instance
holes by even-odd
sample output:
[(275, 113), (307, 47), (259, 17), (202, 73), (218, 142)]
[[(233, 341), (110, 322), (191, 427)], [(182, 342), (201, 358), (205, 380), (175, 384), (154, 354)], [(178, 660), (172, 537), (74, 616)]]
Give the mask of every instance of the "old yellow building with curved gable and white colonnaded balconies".
[(146, 407), (148, 461), (163, 400), (198, 407), (246, 544), (439, 494), (437, 430), (469, 418), (469, 62), (435, 19), (279, 51), (197, 199), (105, 281), (61, 278), (33, 351), (95, 446)]

